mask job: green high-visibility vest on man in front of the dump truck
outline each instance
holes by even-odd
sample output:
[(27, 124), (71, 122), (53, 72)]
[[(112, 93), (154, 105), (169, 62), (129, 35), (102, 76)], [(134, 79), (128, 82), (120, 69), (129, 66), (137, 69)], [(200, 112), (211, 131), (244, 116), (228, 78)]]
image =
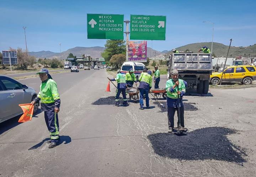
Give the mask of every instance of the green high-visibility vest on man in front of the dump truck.
[(186, 87), (185, 87), (183, 80), (178, 79), (178, 81), (179, 81), (178, 88), (175, 87), (174, 92), (169, 91), (169, 88), (172, 88), (175, 85), (175, 82), (172, 79), (169, 79), (166, 81), (165, 89), (167, 91), (167, 97), (177, 99), (178, 98), (178, 93), (177, 93), (178, 90), (186, 92)]

